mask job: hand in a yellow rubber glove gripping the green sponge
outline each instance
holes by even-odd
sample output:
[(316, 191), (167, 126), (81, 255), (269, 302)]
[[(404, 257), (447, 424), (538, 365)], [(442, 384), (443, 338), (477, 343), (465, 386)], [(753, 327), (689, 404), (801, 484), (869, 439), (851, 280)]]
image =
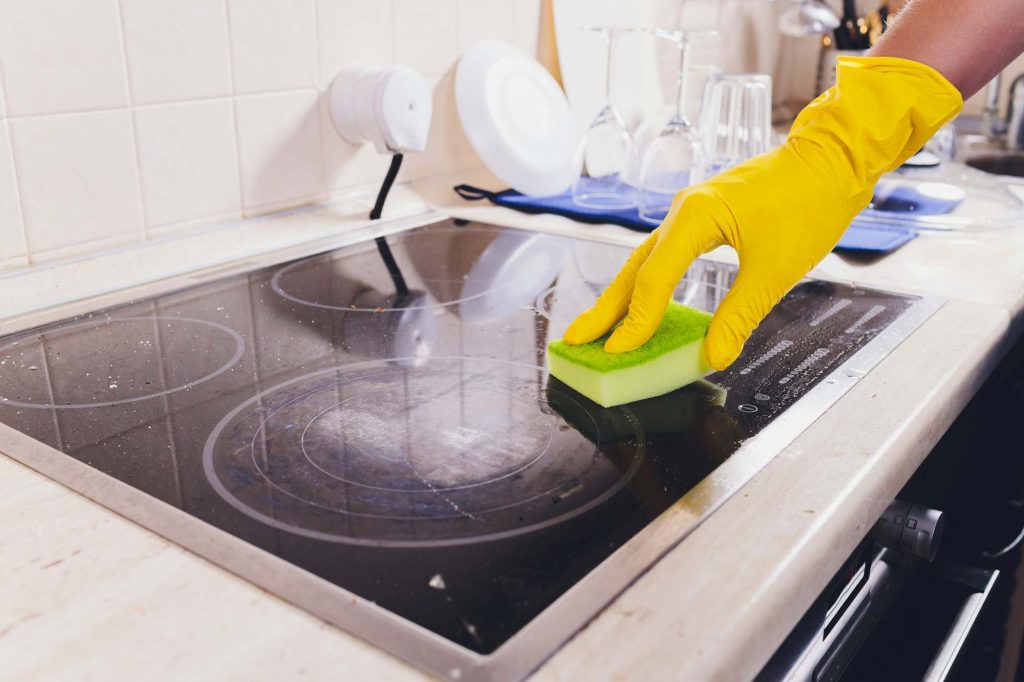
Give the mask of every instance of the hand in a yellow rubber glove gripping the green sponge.
[[(731, 365), (772, 306), (831, 251), (874, 183), (920, 150), (963, 106), (931, 67), (897, 57), (841, 57), (837, 84), (801, 112), (785, 143), (677, 195), (669, 215), (565, 331), (632, 350), (657, 329), (693, 259), (727, 244), (739, 273), (705, 342), (716, 370)], [(628, 313), (628, 314), (627, 314)]]

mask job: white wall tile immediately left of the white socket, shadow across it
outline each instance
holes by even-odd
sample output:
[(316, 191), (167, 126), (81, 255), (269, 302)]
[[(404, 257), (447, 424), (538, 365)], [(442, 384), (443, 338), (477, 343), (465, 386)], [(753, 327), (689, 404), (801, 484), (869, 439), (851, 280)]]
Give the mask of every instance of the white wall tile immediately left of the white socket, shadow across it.
[(247, 213), (324, 191), (318, 100), (316, 90), (237, 99)]

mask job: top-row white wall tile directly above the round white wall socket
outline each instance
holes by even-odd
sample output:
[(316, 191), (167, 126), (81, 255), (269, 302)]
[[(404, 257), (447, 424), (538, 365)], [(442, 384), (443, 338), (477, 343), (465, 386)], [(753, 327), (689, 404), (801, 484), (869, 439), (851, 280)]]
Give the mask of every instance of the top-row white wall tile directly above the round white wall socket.
[(321, 85), (343, 67), (394, 62), (391, 3), (388, 0), (316, 0)]

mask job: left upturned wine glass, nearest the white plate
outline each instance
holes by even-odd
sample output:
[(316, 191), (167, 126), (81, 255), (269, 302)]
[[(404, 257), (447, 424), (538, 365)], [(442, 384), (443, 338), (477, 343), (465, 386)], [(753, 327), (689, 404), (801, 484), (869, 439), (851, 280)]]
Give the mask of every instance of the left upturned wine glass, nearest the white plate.
[(612, 103), (612, 72), (616, 46), (622, 38), (642, 29), (623, 27), (584, 27), (604, 38), (605, 104), (590, 124), (577, 148), (580, 176), (572, 183), (572, 201), (587, 208), (618, 210), (636, 206), (636, 190), (626, 178), (633, 177), (639, 152), (623, 115)]

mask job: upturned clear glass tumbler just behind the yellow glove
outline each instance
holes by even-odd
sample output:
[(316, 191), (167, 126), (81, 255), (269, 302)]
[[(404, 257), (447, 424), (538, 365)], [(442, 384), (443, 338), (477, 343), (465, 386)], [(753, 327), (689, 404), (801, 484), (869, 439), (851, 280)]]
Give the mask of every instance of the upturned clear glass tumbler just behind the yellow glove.
[(697, 123), (707, 179), (772, 147), (771, 77), (715, 74), (705, 83)]

